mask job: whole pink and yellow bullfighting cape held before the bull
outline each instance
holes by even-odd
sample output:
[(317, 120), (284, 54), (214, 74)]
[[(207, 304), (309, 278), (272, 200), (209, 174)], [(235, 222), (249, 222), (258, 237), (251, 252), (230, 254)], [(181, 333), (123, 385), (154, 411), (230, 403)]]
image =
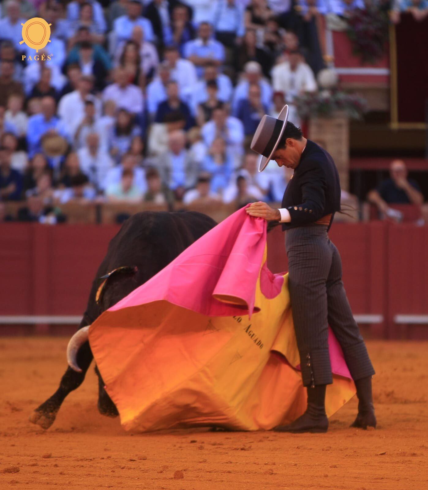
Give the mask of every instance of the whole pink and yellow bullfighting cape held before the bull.
[[(271, 429), (306, 409), (287, 274), (266, 265), (266, 221), (242, 208), (90, 327), (123, 427)], [(330, 331), (331, 416), (354, 394)]]

